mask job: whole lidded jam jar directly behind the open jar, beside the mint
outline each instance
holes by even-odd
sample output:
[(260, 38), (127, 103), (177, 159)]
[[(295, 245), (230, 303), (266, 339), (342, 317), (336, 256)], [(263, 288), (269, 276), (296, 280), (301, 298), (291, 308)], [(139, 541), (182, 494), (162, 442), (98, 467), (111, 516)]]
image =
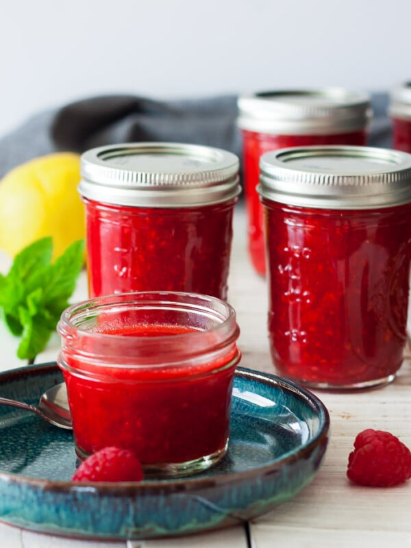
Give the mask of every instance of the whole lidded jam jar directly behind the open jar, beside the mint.
[(170, 143), (82, 155), (91, 297), (184, 291), (227, 298), (236, 155)]

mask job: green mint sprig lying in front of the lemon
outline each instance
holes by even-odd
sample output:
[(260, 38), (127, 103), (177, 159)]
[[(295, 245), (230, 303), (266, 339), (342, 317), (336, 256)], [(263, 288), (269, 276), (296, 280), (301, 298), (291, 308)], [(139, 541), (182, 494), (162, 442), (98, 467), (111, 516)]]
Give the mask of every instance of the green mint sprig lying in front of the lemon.
[(34, 362), (45, 349), (69, 306), (83, 253), (84, 240), (78, 240), (51, 263), (53, 240), (41, 238), (16, 255), (7, 275), (0, 274), (0, 312), (10, 332), (21, 337), (17, 349), (21, 360)]

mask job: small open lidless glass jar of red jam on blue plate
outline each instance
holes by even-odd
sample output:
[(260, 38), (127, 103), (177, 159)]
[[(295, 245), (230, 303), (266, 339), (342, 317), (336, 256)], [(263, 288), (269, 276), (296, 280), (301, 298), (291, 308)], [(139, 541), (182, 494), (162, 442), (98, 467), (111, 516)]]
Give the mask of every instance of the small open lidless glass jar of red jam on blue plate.
[(225, 301), (179, 292), (96, 297), (58, 324), (75, 450), (132, 449), (145, 474), (208, 468), (227, 449), (239, 329)]

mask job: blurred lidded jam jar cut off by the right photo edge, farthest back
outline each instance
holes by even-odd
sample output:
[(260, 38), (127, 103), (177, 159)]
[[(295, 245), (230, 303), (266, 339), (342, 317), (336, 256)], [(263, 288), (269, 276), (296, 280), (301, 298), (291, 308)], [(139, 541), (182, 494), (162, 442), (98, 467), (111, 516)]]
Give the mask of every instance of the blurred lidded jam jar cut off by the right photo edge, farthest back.
[(388, 114), (393, 123), (393, 147), (411, 152), (411, 82), (391, 91)]

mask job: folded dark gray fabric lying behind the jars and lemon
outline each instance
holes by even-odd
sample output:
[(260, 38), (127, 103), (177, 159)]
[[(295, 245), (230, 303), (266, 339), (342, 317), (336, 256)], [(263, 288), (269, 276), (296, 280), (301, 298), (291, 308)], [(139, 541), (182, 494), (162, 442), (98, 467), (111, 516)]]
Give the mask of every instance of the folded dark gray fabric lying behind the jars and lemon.
[[(390, 147), (388, 95), (372, 96), (369, 144)], [(132, 95), (90, 97), (41, 112), (0, 139), (0, 177), (14, 166), (56, 151), (82, 153), (116, 142), (166, 141), (209, 145), (241, 155), (235, 95), (155, 101)]]

